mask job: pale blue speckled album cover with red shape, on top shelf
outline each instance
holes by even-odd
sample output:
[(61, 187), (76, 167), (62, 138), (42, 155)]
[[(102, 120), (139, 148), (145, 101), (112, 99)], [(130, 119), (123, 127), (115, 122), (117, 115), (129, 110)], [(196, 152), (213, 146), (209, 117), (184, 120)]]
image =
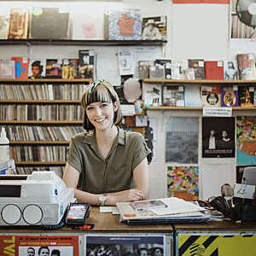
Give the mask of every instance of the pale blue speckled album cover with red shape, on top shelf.
[(108, 40), (141, 40), (142, 18), (137, 9), (113, 10), (108, 17)]

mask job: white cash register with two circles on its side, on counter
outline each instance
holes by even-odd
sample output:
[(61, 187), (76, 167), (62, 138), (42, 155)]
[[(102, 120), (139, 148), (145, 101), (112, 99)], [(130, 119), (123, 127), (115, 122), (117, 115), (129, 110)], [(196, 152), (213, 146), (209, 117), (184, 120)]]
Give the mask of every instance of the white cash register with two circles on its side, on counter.
[(55, 225), (74, 201), (55, 172), (0, 176), (0, 225)]

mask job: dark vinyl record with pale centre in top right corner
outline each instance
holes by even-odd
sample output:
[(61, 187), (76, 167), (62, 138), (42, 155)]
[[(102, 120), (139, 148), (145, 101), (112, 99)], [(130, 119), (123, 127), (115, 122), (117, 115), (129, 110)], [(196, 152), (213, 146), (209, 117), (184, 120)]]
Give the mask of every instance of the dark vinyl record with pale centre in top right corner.
[(256, 27), (256, 0), (238, 0), (236, 14), (242, 23)]

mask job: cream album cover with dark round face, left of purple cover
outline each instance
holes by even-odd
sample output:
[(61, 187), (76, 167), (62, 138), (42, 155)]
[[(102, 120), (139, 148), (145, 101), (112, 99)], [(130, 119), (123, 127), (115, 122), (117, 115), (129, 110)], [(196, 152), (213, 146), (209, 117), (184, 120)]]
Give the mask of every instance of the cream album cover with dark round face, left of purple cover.
[(221, 87), (201, 85), (201, 102), (203, 107), (221, 107)]

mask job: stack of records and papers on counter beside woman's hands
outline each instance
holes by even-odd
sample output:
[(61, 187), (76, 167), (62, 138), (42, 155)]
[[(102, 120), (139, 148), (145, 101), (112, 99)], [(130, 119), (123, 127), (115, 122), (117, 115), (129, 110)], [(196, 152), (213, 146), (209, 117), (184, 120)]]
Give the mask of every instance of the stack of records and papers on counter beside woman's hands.
[(177, 197), (118, 202), (120, 222), (126, 224), (172, 224), (206, 222), (204, 208)]

